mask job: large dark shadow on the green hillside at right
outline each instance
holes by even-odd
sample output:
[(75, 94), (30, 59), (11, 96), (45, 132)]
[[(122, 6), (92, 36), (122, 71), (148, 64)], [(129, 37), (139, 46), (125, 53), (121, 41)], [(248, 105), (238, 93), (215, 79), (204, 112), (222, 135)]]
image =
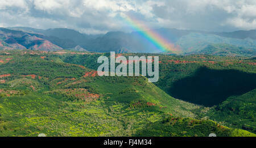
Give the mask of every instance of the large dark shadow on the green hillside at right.
[(191, 77), (174, 82), (169, 92), (174, 98), (211, 107), (254, 88), (256, 74), (201, 67)]

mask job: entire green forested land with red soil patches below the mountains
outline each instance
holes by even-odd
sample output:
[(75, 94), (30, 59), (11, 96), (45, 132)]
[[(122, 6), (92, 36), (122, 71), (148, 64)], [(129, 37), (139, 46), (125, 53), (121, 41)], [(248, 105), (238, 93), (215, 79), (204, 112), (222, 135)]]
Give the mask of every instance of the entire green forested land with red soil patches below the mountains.
[(98, 77), (99, 56), (1, 51), (0, 136), (255, 136), (254, 58), (146, 54), (160, 63), (148, 83)]

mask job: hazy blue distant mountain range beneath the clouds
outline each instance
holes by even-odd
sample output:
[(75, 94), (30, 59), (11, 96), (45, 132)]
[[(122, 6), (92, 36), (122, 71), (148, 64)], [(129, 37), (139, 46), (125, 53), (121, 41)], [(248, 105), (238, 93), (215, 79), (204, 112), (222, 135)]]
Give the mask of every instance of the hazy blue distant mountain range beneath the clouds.
[[(179, 46), (182, 54), (256, 56), (256, 30), (205, 32), (156, 29), (170, 43)], [(0, 49), (61, 50), (81, 48), (90, 52), (159, 53), (141, 32), (108, 32), (86, 35), (73, 29), (35, 29), (29, 27), (0, 28)]]

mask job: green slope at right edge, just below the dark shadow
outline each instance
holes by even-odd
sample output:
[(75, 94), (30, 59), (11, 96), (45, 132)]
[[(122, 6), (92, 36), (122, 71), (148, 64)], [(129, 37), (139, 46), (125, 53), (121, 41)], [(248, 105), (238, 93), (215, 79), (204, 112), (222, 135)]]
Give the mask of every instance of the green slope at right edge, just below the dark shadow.
[(240, 96), (231, 96), (225, 102), (210, 109), (210, 119), (225, 125), (256, 133), (256, 89)]

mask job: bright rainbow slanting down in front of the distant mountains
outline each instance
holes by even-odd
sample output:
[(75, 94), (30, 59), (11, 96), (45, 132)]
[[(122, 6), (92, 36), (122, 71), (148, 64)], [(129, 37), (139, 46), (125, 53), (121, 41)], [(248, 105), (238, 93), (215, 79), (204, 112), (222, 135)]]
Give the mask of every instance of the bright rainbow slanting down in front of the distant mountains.
[(174, 44), (169, 43), (166, 39), (159, 35), (159, 33), (153, 31), (152, 29), (148, 28), (143, 23), (139, 22), (137, 19), (131, 18), (128, 15), (123, 16), (125, 22), (129, 24), (135, 31), (150, 41), (156, 48), (162, 50), (162, 52), (171, 52), (171, 53), (180, 53), (179, 48), (175, 48)]

